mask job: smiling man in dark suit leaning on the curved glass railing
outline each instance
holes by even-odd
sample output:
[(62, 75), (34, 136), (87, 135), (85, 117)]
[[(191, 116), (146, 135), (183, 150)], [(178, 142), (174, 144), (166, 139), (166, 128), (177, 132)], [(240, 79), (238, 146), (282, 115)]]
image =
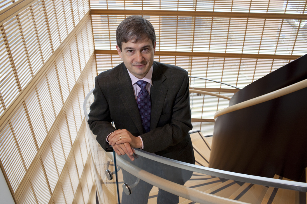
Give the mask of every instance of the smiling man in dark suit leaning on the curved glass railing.
[[(88, 124), (97, 135), (96, 140), (104, 150), (126, 154), (131, 161), (134, 160), (131, 147), (136, 147), (194, 164), (188, 134), (192, 124), (187, 71), (153, 61), (154, 28), (141, 16), (130, 16), (122, 21), (116, 30), (116, 42), (123, 63), (95, 78), (95, 100)], [(132, 163), (152, 172), (144, 162)], [(169, 169), (162, 174), (181, 185), (192, 175), (179, 169)], [(136, 180), (124, 170), (123, 176), (130, 185)], [(123, 194), (122, 203), (147, 203), (151, 187), (140, 181), (131, 195)], [(159, 189), (157, 203), (178, 202), (178, 196)]]

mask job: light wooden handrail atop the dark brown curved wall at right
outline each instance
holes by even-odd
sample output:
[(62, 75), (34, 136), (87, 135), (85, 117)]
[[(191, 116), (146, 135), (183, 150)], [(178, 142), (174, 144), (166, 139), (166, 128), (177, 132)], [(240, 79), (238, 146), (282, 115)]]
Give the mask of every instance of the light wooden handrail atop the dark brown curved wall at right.
[(287, 87), (278, 89), (276, 91), (272, 91), (272, 92), (264, 94), (262, 96), (258, 96), (256, 98), (252, 98), (252, 99), (249, 99), (247, 101), (243, 101), (241, 103), (235, 104), (233, 106), (229, 106), (229, 107), (217, 112), (214, 115), (214, 119), (216, 119), (216, 117), (219, 117), (219, 116), (224, 115), (226, 113), (231, 113), (231, 112), (239, 110), (239, 109), (254, 106), (256, 104), (263, 103), (263, 102), (272, 100), (274, 98), (278, 98), (278, 97), (290, 94), (294, 91), (298, 91), (298, 90), (306, 88), (306, 87), (307, 87), (307, 79), (302, 80), (302, 81), (297, 82), (297, 83), (293, 83), (293, 84), (291, 84)]

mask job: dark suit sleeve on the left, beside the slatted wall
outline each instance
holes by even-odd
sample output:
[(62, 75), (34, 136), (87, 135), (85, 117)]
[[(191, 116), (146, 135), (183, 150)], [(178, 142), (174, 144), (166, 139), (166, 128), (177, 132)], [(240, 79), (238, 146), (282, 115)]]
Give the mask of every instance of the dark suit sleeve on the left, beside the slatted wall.
[(107, 136), (115, 131), (111, 125), (112, 118), (110, 115), (109, 104), (105, 98), (98, 82), (97, 76), (95, 77), (95, 89), (93, 91), (95, 96), (94, 102), (91, 104), (91, 111), (88, 114), (88, 124), (94, 135), (97, 135), (96, 140), (101, 147), (106, 151), (111, 151), (112, 147), (106, 142)]

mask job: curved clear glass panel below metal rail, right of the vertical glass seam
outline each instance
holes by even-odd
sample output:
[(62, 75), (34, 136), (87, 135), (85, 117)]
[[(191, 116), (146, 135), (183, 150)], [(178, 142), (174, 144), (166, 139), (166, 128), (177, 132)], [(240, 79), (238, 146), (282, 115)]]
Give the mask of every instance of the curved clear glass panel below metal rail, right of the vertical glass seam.
[[(157, 156), (153, 154), (153, 157)], [(305, 192), (189, 171), (138, 154), (134, 154), (134, 158), (134, 161), (131, 161), (126, 155), (116, 155), (116, 162), (121, 167), (118, 178), (120, 202), (123, 204), (306, 202)], [(201, 163), (200, 160), (198, 162)], [(274, 179), (291, 181), (278, 175), (275, 175)]]

